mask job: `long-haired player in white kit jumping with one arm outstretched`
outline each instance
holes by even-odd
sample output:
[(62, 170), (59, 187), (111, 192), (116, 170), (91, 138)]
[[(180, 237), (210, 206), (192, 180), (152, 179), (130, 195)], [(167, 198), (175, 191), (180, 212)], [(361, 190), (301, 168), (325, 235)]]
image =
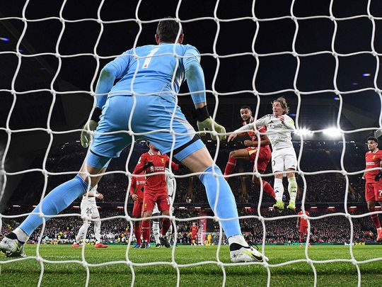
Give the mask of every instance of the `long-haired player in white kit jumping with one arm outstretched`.
[(287, 171), (288, 176), (288, 191), (290, 196), (289, 210), (296, 210), (296, 195), (297, 182), (294, 171), (297, 167), (297, 157), (291, 142), (291, 133), (296, 129), (294, 120), (287, 116), (289, 107), (284, 97), (279, 97), (272, 103), (273, 114), (263, 116), (253, 123), (244, 125), (235, 130), (228, 137), (228, 142), (238, 136), (238, 133), (243, 133), (248, 130), (265, 125), (267, 127), (267, 136), (270, 138), (272, 145), (272, 171), (274, 174), (274, 193), (276, 194), (276, 203), (274, 208), (283, 210), (284, 202), (282, 196), (284, 194), (284, 186), (282, 185), (282, 174)]

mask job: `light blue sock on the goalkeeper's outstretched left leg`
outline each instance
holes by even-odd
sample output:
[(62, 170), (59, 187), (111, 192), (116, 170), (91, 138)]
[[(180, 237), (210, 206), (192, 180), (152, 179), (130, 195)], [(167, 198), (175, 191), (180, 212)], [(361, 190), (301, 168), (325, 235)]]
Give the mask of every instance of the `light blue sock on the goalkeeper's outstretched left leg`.
[[(76, 200), (76, 198), (86, 193), (87, 188), (88, 183), (77, 174), (74, 179), (66, 181), (64, 184), (50, 191), (32, 213), (40, 213), (41, 206), (42, 213), (44, 213), (45, 216), (57, 215)], [(50, 218), (45, 217), (45, 220), (50, 220)], [(30, 214), (19, 227), (30, 236), (40, 225), (42, 225), (42, 218), (37, 214)]]

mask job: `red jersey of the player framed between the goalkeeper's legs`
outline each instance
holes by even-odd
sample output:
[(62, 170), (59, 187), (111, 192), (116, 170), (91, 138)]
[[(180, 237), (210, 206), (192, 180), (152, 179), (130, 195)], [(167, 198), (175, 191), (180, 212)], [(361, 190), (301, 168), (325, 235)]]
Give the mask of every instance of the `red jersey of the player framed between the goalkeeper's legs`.
[[(137, 167), (134, 169), (134, 174), (139, 174), (141, 171), (144, 171), (144, 164), (148, 162), (153, 162), (154, 165), (145, 170), (146, 174), (153, 174), (154, 172), (162, 172), (162, 174), (146, 176), (144, 191), (167, 193), (166, 176), (164, 172), (165, 168), (168, 167), (168, 164), (170, 164), (170, 158), (167, 154), (161, 154), (161, 152), (158, 152), (157, 154), (154, 154), (151, 151), (145, 152), (144, 154), (141, 154)], [(178, 164), (171, 162), (171, 169), (178, 170)]]

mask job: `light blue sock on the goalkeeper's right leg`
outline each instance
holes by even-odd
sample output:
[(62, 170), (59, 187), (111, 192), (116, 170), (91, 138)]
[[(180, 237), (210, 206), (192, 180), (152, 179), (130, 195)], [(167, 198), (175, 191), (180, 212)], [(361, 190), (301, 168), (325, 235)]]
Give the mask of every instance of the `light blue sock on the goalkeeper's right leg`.
[[(236, 207), (235, 197), (233, 196), (227, 181), (224, 180), (223, 174), (221, 174), (219, 167), (216, 165), (211, 165), (203, 172), (206, 172), (207, 174), (202, 174), (199, 176), (199, 179), (206, 188), (207, 199), (212, 210), (215, 209), (215, 201), (218, 201), (215, 215), (219, 216), (219, 218), (238, 218), (238, 209)], [(212, 172), (215, 172), (217, 177), (215, 177)], [(217, 185), (218, 183), (219, 190)], [(218, 191), (219, 198), (216, 198), (216, 193)], [(238, 219), (228, 221), (222, 220), (220, 223), (227, 238), (233, 235), (241, 235)]]

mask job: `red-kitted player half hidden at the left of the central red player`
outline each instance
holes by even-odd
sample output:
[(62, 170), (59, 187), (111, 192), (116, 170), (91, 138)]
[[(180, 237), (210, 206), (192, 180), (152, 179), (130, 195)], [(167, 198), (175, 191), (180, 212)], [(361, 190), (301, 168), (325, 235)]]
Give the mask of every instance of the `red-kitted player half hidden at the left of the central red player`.
[[(144, 172), (141, 174), (143, 176), (137, 176), (132, 178), (132, 185), (130, 186), (130, 195), (132, 196), (132, 200), (134, 201), (133, 208), (133, 217), (141, 218), (142, 216), (142, 205), (144, 198), (144, 185), (146, 184), (146, 177), (144, 176)], [(134, 235), (137, 238), (137, 244), (134, 248), (141, 247), (141, 221), (134, 221)]]

